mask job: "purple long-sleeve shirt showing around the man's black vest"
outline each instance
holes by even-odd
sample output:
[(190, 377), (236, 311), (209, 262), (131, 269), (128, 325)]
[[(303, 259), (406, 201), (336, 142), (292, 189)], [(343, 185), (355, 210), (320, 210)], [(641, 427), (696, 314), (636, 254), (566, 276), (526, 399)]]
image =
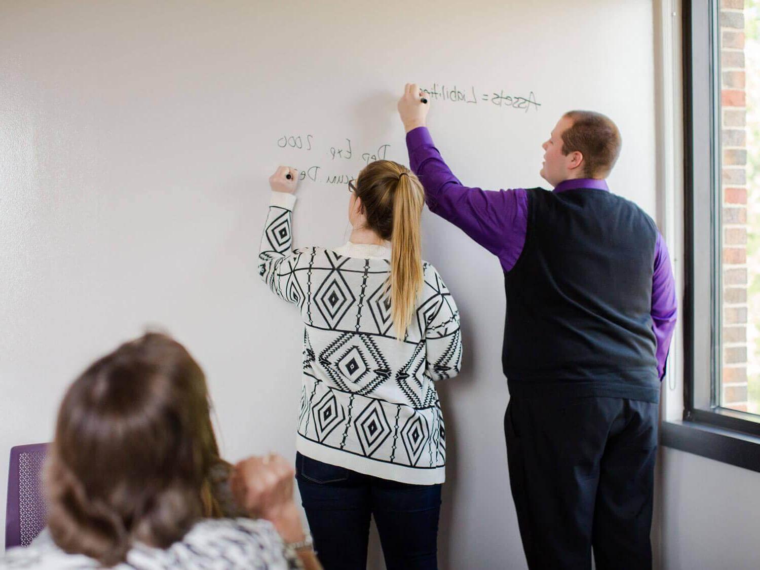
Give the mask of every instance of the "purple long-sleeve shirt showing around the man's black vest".
[[(451, 173), (425, 127), (407, 133), (411, 169), (425, 187), (425, 201), (435, 214), (461, 228), (472, 239), (496, 255), (504, 271), (515, 267), (527, 231), (527, 192), (524, 188), (483, 190), (468, 188)], [(554, 192), (573, 188), (607, 190), (597, 179), (560, 182)], [(652, 275), (652, 330), (657, 340), (657, 372), (665, 374), (665, 363), (676, 328), (676, 283), (663, 236), (657, 232)]]

